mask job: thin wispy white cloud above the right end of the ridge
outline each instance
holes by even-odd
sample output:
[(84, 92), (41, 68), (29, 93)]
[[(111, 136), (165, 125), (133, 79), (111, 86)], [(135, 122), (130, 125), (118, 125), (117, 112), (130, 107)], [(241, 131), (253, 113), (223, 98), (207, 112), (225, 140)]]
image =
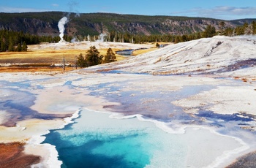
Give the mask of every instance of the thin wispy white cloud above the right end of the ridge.
[(219, 6), (210, 9), (194, 8), (187, 11), (175, 12), (175, 15), (187, 15), (204, 18), (236, 19), (236, 18), (256, 18), (256, 7), (228, 7)]

